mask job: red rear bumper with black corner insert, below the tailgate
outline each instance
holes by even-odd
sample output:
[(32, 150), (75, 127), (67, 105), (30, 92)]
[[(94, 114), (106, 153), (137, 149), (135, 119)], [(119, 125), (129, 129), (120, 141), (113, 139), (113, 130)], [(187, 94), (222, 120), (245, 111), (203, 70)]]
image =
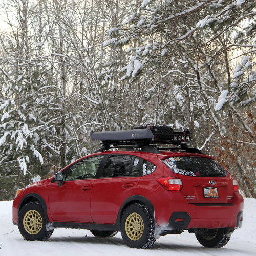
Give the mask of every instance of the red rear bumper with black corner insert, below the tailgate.
[(229, 204), (193, 204), (177, 194), (169, 202), (171, 204), (162, 215), (156, 209), (156, 221), (162, 231), (193, 228), (234, 229), (242, 226), (243, 198), (239, 193), (234, 195), (233, 202)]

